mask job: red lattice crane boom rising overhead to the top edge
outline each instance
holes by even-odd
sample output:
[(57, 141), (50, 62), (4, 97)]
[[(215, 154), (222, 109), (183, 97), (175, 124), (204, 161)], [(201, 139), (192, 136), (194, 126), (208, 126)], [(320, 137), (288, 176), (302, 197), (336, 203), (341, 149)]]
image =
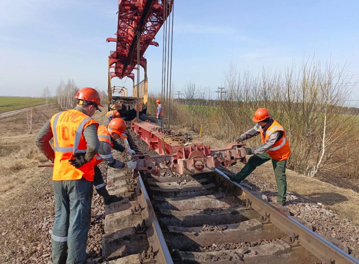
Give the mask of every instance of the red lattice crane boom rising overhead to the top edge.
[[(167, 1), (167, 2), (166, 2)], [(122, 79), (131, 76), (137, 64), (137, 38), (140, 34), (140, 60), (149, 45), (158, 47), (153, 39), (171, 12), (173, 0), (119, 0), (116, 51), (110, 52), (110, 66), (115, 65), (115, 75)], [(167, 10), (165, 10), (167, 9)], [(113, 76), (113, 75), (112, 75)], [(114, 77), (114, 76), (113, 76)]]

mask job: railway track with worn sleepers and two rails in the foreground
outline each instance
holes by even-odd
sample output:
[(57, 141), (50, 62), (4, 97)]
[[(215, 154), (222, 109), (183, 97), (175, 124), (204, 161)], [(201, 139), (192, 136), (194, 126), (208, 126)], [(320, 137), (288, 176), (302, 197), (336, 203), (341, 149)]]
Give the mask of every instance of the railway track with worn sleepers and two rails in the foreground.
[[(131, 148), (148, 146), (134, 133)], [(151, 153), (150, 153), (151, 154)], [(126, 161), (126, 155), (116, 154)], [(109, 168), (103, 256), (119, 263), (359, 263), (222, 171), (160, 176)]]

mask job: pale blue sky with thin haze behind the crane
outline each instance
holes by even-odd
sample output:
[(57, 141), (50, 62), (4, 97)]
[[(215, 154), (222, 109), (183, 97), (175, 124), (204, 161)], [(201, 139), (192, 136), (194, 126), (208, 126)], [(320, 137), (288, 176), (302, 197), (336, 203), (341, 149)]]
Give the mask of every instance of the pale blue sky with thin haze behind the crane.
[[(0, 95), (41, 96), (46, 86), (55, 94), (61, 79), (106, 90), (117, 8), (118, 0), (1, 0)], [(347, 65), (357, 81), (358, 10), (356, 0), (175, 0), (174, 90), (189, 81), (216, 90), (230, 61), (257, 75), (312, 56)], [(161, 89), (162, 34), (145, 52), (150, 92)], [(112, 84), (131, 88), (132, 80)]]

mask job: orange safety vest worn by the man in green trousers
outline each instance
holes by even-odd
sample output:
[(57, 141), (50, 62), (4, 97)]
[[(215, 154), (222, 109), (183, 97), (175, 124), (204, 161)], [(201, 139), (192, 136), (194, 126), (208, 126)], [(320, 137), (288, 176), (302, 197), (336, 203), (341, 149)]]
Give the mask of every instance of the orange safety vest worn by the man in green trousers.
[(265, 143), (270, 135), (274, 133), (275, 131), (283, 131), (283, 136), (274, 143), (274, 145), (267, 150), (267, 154), (274, 160), (286, 160), (290, 156), (290, 147), (288, 138), (285, 135), (284, 128), (275, 120), (273, 120), (273, 123), (271, 126), (267, 129), (265, 136), (263, 129), (260, 129), (261, 131), (261, 137), (262, 137), (262, 143)]

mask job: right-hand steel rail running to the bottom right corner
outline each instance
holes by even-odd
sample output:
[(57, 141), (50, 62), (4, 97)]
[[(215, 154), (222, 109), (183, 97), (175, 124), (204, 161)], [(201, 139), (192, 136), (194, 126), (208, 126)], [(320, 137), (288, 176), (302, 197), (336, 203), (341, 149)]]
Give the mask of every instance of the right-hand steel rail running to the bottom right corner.
[[(359, 261), (339, 249), (337, 246), (331, 244), (323, 237), (309, 230), (306, 226), (302, 225), (292, 217), (286, 215), (280, 209), (272, 206), (270, 203), (262, 200), (253, 194), (250, 190), (243, 187), (239, 183), (231, 180), (225, 173), (215, 169), (215, 171), (223, 176), (230, 183), (234, 184), (240, 195), (248, 197), (251, 201), (252, 208), (262, 215), (268, 215), (271, 223), (283, 230), (289, 236), (293, 233), (298, 236), (300, 245), (310, 251), (314, 256), (322, 260), (324, 263), (330, 264), (359, 264)], [(238, 190), (239, 188), (239, 190)]]

